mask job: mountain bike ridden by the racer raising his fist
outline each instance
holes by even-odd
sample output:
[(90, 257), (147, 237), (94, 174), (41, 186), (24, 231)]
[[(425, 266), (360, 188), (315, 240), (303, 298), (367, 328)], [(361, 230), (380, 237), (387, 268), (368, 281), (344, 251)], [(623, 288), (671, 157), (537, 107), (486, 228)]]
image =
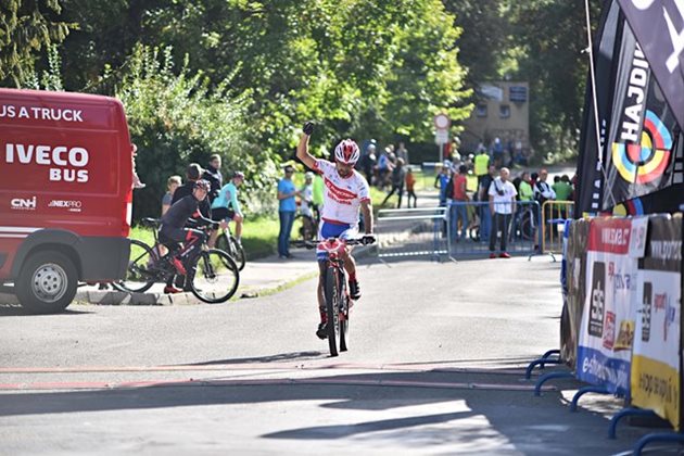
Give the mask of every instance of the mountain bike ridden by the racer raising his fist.
[(330, 356), (338, 356), (338, 339), (340, 342), (340, 352), (347, 351), (346, 343), (350, 330), (351, 299), (346, 289), (346, 274), (344, 271), (344, 261), (341, 257), (341, 252), (344, 251), (346, 245), (359, 245), (371, 242), (371, 240), (365, 238), (347, 240), (329, 238), (306, 243), (307, 249), (321, 245), (328, 253), (325, 265), (324, 296), (326, 301)]

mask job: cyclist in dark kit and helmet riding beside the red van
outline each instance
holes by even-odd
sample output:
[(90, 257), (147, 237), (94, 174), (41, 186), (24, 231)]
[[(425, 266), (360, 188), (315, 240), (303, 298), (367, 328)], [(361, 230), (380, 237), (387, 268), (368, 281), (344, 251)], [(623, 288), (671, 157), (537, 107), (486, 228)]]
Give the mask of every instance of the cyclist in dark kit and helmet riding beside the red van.
[[(195, 181), (192, 193), (174, 203), (162, 217), (160, 242), (167, 245), (170, 250), (177, 248), (179, 242), (183, 243), (180, 252), (170, 258), (170, 263), (179, 276), (188, 276), (186, 265), (192, 264), (206, 240), (206, 235), (203, 231), (186, 228), (186, 224), (190, 220), (197, 226), (216, 225), (214, 220), (205, 218), (200, 213), (200, 203), (204, 201), (211, 189), (212, 186), (208, 181), (203, 179)], [(221, 228), (226, 228), (227, 224), (221, 221), (219, 225)], [(190, 271), (190, 275), (192, 275), (192, 271)], [(188, 277), (185, 291), (188, 291), (190, 282), (191, 277)], [(179, 292), (180, 290), (174, 287), (174, 276), (172, 276), (166, 282), (164, 293)]]

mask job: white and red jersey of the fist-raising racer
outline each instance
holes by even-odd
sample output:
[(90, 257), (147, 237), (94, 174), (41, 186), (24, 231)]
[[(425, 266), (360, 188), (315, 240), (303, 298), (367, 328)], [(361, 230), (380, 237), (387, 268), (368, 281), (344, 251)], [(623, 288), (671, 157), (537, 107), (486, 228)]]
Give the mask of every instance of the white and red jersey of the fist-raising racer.
[(358, 210), (363, 201), (370, 201), (368, 182), (356, 169), (349, 177), (338, 173), (334, 163), (317, 160), (314, 170), (326, 185), (321, 218), (338, 224), (358, 224)]

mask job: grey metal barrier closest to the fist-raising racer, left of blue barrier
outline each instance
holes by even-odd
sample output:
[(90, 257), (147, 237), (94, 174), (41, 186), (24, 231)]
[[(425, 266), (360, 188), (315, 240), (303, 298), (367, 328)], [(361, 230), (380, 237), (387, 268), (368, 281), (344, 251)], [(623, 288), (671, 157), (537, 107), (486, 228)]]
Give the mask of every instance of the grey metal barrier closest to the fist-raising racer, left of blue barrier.
[(446, 207), (381, 210), (376, 220), (379, 257), (448, 255)]

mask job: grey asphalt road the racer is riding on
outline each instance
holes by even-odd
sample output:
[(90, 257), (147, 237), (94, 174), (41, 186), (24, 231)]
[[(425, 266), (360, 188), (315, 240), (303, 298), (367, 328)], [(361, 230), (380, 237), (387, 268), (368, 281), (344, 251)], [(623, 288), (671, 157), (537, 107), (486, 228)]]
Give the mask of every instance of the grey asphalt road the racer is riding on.
[(227, 305), (0, 307), (0, 454), (616, 454), (648, 430), (521, 367), (558, 346), (548, 257), (359, 268), (350, 352), (315, 281)]

